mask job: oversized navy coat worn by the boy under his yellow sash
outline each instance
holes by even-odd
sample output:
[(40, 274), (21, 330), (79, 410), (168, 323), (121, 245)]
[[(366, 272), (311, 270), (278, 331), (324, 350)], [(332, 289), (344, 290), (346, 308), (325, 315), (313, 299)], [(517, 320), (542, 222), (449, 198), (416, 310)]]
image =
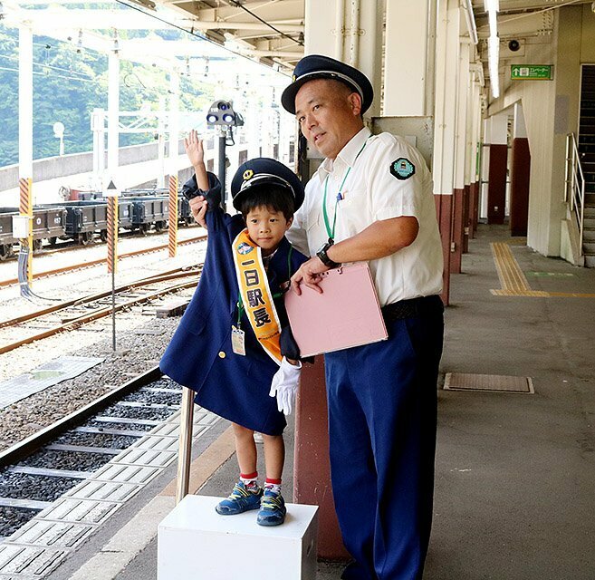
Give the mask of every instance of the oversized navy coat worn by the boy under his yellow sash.
[[(191, 179), (185, 188), (196, 186)], [(245, 356), (231, 346), (232, 325), (237, 326), (238, 285), (232, 243), (245, 228), (241, 215), (229, 216), (218, 207), (217, 180), (209, 174), (206, 193), (208, 247), (205, 266), (197, 290), (159, 363), (174, 381), (197, 392), (195, 401), (208, 411), (247, 429), (279, 435), (285, 427), (283, 413), (269, 396), (271, 380), (279, 365), (264, 352), (248, 319), (242, 317), (245, 331)], [(283, 241), (271, 257), (267, 275), (271, 292), (281, 285), (307, 259)], [(282, 326), (287, 323), (283, 297), (274, 304)]]

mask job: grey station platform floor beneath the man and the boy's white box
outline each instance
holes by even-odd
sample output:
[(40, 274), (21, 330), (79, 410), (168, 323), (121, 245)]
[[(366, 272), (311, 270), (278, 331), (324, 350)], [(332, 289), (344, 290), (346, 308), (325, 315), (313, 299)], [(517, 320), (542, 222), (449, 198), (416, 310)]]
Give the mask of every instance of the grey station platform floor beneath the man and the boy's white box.
[[(595, 269), (536, 254), (506, 227), (480, 225), (462, 273), (452, 275), (450, 298), (424, 578), (592, 580)], [(293, 432), (290, 421), (286, 497)], [(193, 459), (192, 491), (226, 496), (237, 477), (226, 421), (197, 440)], [(175, 469), (50, 577), (155, 578), (158, 522), (174, 507)], [(317, 577), (338, 579), (342, 567), (319, 562)]]

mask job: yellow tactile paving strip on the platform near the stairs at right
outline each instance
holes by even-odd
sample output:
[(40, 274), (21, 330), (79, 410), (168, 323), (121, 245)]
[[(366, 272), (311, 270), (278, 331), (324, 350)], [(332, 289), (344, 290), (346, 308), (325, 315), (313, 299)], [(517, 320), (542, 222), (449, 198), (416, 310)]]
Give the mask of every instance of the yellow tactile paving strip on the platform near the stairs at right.
[(513, 256), (511, 247), (506, 242), (491, 244), (494, 254), (494, 264), (502, 286), (498, 290), (490, 290), (495, 296), (530, 296), (533, 298), (595, 298), (595, 294), (580, 294), (576, 292), (544, 292), (532, 290), (523, 270)]

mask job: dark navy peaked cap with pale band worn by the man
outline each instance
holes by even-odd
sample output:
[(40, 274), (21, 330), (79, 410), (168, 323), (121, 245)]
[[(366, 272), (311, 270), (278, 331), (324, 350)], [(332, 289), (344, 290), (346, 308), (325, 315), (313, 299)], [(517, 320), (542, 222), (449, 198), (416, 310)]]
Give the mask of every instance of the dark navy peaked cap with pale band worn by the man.
[(314, 79), (334, 79), (349, 85), (360, 93), (361, 112), (368, 111), (374, 100), (374, 90), (368, 77), (349, 64), (341, 63), (330, 56), (310, 54), (304, 56), (293, 69), (292, 84), (281, 95), (281, 104), (285, 111), (295, 114), (295, 95), (303, 84)]

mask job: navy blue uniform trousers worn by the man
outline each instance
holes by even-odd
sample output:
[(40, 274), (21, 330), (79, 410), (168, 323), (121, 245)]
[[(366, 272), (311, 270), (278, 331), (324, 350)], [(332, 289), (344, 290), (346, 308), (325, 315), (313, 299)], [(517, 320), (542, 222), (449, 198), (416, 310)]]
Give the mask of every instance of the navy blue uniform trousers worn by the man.
[[(438, 296), (426, 314), (387, 322), (389, 339), (325, 355), (331, 481), (346, 580), (421, 578), (432, 521)], [(437, 307), (437, 303), (439, 303)]]

